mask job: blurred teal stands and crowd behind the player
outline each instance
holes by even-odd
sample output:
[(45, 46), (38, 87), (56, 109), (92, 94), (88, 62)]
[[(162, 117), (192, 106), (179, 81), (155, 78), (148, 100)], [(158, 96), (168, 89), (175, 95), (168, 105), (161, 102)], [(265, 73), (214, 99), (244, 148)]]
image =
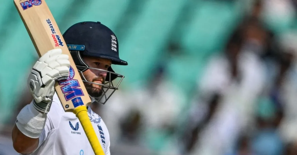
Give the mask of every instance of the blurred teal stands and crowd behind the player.
[[(38, 59), (12, 1), (0, 5), (0, 155), (33, 99)], [(296, 155), (296, 0), (48, 0), (60, 31), (100, 21), (128, 66), (92, 108), (112, 155)]]

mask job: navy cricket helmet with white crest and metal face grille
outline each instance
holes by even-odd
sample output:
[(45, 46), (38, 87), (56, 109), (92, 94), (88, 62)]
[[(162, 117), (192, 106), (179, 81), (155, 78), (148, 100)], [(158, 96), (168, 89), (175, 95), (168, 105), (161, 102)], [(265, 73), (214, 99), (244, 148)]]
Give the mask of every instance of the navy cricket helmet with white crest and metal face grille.
[[(83, 77), (83, 82), (97, 84), (87, 81), (83, 76), (84, 71), (88, 69), (105, 70), (89, 67), (82, 59), (82, 56), (110, 59), (114, 65), (128, 65), (126, 61), (119, 57), (119, 43), (116, 35), (110, 28), (100, 22), (86, 21), (76, 23), (65, 31), (63, 38), (80, 75)], [(111, 66), (106, 72), (105, 83), (98, 84), (102, 86), (102, 95), (99, 98), (90, 95), (93, 100), (102, 104), (105, 104), (110, 96), (118, 90), (119, 84), (124, 78), (123, 75), (115, 73)], [(120, 78), (120, 80), (118, 84), (114, 85), (113, 80), (116, 78)], [(112, 90), (109, 95), (107, 95), (108, 90)]]

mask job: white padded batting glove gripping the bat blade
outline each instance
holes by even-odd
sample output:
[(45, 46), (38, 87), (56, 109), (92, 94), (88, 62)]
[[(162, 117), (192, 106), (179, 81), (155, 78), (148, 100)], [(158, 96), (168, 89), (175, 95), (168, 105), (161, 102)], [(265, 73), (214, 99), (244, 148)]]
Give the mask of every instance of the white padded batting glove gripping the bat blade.
[(38, 111), (48, 113), (55, 92), (55, 81), (67, 79), (69, 66), (69, 56), (62, 54), (61, 49), (48, 51), (35, 63), (27, 83)]

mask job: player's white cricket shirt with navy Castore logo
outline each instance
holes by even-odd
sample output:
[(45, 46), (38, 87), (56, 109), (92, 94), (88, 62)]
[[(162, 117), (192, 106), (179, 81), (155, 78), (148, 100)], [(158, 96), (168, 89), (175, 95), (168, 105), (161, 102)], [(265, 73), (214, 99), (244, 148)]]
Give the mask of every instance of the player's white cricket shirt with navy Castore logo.
[[(38, 148), (31, 155), (94, 155), (78, 118), (64, 111), (56, 93), (47, 115)], [(109, 133), (105, 123), (90, 107), (88, 115), (103, 151), (110, 155)]]

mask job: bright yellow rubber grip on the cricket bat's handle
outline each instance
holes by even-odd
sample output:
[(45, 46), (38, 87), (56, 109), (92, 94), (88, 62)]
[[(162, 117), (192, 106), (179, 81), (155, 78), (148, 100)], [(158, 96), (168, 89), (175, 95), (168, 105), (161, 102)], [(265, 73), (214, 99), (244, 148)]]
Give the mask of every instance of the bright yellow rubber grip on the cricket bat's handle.
[(89, 119), (86, 106), (78, 106), (73, 110), (73, 113), (79, 119), (81, 126), (83, 126), (83, 130), (85, 131), (87, 138), (93, 148), (95, 155), (105, 155), (97, 135), (94, 131), (92, 123)]

